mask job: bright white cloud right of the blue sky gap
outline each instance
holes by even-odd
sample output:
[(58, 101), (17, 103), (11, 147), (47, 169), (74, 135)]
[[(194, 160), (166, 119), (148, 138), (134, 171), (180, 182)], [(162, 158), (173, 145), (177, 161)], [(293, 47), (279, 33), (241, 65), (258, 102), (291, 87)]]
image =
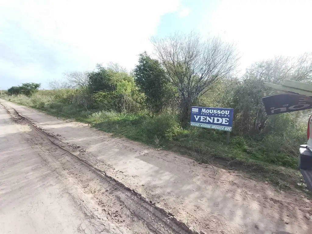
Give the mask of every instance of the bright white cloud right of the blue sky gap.
[(244, 69), (275, 55), (311, 52), (311, 9), (310, 0), (224, 0), (202, 31), (236, 43)]

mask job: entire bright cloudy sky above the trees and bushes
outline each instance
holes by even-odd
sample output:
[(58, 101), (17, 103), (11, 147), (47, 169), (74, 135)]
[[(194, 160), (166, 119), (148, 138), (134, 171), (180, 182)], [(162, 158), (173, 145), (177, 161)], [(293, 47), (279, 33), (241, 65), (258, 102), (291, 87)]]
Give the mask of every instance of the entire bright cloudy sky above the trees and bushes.
[(241, 52), (241, 69), (312, 51), (310, 0), (0, 0), (0, 88), (117, 62), (133, 69), (151, 36), (195, 30)]

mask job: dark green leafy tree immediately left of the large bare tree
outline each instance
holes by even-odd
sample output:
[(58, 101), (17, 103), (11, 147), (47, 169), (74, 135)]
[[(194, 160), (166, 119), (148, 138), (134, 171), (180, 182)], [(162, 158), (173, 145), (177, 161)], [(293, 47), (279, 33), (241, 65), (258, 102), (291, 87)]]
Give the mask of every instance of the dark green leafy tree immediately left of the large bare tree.
[(139, 64), (134, 69), (135, 83), (146, 96), (146, 104), (154, 114), (163, 112), (172, 91), (165, 71), (158, 60), (152, 59), (146, 52), (140, 54)]

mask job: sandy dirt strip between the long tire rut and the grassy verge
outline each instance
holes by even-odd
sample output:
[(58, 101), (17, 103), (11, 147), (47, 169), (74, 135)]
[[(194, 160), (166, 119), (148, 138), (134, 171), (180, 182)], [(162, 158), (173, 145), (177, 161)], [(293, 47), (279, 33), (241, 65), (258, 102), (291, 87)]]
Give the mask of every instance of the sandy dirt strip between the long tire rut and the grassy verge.
[(300, 192), (277, 191), (242, 173), (204, 165), (88, 124), (63, 120), (2, 102), (71, 147), (94, 168), (105, 171), (198, 233), (311, 233), (311, 200)]

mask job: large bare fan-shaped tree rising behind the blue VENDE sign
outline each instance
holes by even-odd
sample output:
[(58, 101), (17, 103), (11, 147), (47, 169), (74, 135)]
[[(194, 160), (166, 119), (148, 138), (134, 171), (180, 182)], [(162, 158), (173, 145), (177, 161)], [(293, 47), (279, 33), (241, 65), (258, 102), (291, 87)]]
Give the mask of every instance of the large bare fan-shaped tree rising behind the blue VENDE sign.
[(151, 39), (169, 81), (180, 94), (181, 121), (186, 123), (192, 103), (211, 85), (236, 69), (238, 56), (233, 44), (218, 37), (202, 38), (196, 33), (176, 33)]

